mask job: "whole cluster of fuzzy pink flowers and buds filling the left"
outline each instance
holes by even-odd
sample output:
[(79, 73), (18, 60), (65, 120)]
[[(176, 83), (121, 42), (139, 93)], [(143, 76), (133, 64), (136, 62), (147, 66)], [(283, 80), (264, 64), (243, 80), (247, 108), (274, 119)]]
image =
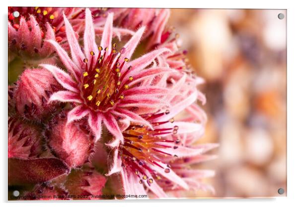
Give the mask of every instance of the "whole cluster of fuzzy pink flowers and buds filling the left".
[(9, 58), (27, 63), (8, 86), (10, 186), (24, 185), (27, 199), (214, 191), (203, 182), (214, 172), (192, 167), (215, 158), (205, 153), (217, 147), (196, 144), (207, 120), (197, 103), (206, 102), (204, 81), (166, 26), (169, 15), (8, 9)]

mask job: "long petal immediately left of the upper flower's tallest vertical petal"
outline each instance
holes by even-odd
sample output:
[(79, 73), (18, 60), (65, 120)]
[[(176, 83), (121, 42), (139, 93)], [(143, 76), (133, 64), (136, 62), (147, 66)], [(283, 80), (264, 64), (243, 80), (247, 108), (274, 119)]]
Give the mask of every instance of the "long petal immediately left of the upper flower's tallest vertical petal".
[(76, 39), (75, 31), (69, 20), (67, 19), (66, 15), (64, 14), (64, 21), (66, 26), (66, 33), (69, 42), (69, 46), (71, 48), (72, 58), (78, 68), (82, 68), (84, 66), (84, 58), (80, 45)]

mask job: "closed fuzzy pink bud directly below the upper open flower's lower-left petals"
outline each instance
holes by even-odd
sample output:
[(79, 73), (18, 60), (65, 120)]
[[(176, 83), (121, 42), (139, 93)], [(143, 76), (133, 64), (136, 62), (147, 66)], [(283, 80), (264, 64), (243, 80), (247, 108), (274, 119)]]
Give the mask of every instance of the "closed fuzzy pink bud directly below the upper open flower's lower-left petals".
[(93, 136), (82, 121), (67, 124), (64, 112), (57, 114), (45, 132), (53, 153), (69, 167), (79, 167), (89, 162), (93, 152)]

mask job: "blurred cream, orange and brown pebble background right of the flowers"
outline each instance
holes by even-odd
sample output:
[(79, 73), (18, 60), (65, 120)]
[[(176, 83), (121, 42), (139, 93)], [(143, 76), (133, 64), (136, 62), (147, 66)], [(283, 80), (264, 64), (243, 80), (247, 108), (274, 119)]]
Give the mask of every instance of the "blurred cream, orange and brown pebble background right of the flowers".
[[(285, 14), (279, 19), (278, 14)], [(206, 80), (208, 114), (199, 143), (218, 142), (207, 180), (216, 194), (189, 197), (286, 196), (286, 10), (172, 9), (169, 25), (197, 74)]]

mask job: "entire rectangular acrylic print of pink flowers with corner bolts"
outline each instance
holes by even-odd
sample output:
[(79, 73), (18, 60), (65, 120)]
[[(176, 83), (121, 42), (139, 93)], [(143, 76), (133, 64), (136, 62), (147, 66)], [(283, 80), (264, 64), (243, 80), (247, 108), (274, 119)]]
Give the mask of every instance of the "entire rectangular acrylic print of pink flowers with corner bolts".
[(8, 7), (8, 200), (286, 196), (286, 16)]

